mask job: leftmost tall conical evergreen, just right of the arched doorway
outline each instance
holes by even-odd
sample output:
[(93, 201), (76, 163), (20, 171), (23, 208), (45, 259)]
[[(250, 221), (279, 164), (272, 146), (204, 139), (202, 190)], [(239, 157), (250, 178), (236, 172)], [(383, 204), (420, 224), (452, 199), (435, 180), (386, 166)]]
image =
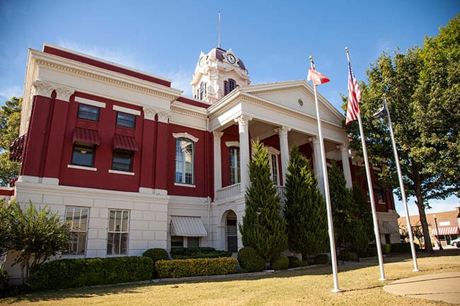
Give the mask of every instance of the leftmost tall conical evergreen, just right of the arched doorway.
[(246, 210), (243, 224), (238, 227), (244, 247), (252, 247), (265, 261), (271, 262), (287, 249), (286, 221), (280, 215), (280, 196), (270, 178), (267, 148), (255, 141), (253, 149), (249, 163), (251, 186), (246, 189)]

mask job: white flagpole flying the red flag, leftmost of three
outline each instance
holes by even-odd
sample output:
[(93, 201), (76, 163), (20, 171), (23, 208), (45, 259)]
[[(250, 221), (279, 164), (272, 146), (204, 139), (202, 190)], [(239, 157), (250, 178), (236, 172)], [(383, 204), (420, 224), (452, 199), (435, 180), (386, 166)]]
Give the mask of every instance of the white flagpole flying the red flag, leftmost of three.
[[(311, 69), (314, 69), (313, 57), (310, 56)], [(334, 279), (334, 288), (332, 292), (337, 293), (342, 290), (338, 288), (338, 276), (337, 276), (337, 256), (335, 255), (335, 241), (334, 241), (334, 225), (332, 220), (332, 208), (330, 205), (330, 194), (329, 194), (329, 181), (328, 181), (328, 167), (326, 165), (326, 153), (324, 150), (323, 141), (323, 129), (321, 127), (321, 118), (319, 117), (318, 107), (318, 95), (316, 93), (316, 85), (313, 85), (315, 93), (315, 107), (316, 107), (316, 119), (318, 120), (318, 136), (319, 136), (319, 147), (321, 150), (321, 165), (323, 165), (323, 182), (324, 182), (324, 194), (326, 196), (326, 210), (328, 212), (328, 232), (329, 232), (329, 243), (330, 243), (330, 261), (332, 261), (332, 273)]]

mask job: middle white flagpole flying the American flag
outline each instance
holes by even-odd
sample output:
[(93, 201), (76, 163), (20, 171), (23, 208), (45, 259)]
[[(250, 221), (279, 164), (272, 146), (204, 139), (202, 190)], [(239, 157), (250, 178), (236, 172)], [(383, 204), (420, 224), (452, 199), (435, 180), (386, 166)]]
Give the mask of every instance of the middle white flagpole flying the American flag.
[[(346, 47), (345, 49), (347, 50), (348, 62), (350, 62), (350, 54), (348, 54), (348, 47)], [(375, 210), (374, 187), (372, 186), (371, 170), (369, 169), (369, 159), (367, 158), (366, 140), (364, 139), (364, 129), (362, 128), (360, 112), (357, 113), (357, 117), (358, 117), (358, 122), (360, 124), (362, 155), (364, 157), (364, 165), (366, 166), (367, 187), (369, 189), (369, 198), (371, 200), (372, 220), (374, 221), (374, 235), (375, 235), (375, 242), (376, 242), (376, 248), (377, 248), (377, 257), (379, 257), (379, 267), (380, 267), (379, 281), (386, 281), (385, 272), (384, 272), (384, 259), (381, 253), (379, 221), (377, 220), (377, 214)]]

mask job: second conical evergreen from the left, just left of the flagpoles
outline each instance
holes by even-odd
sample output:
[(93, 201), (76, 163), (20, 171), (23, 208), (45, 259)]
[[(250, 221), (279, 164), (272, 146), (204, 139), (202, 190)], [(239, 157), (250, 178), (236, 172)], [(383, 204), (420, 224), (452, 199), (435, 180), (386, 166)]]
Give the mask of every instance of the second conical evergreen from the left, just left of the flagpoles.
[(289, 249), (303, 256), (328, 249), (326, 204), (308, 160), (294, 147), (287, 165), (284, 218)]

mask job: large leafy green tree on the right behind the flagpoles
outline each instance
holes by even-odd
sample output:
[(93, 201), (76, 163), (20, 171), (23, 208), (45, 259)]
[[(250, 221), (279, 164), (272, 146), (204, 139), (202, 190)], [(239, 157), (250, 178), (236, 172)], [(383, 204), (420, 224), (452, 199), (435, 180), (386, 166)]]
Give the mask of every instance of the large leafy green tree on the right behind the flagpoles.
[[(369, 158), (385, 165), (381, 177), (398, 187), (386, 119), (372, 119), (386, 95), (406, 192), (415, 197), (425, 247), (431, 241), (425, 208), (431, 199), (459, 195), (460, 184), (460, 14), (437, 37), (406, 52), (384, 52), (362, 83), (360, 112)], [(360, 151), (357, 122), (347, 127)], [(401, 195), (401, 194), (400, 194)]]

